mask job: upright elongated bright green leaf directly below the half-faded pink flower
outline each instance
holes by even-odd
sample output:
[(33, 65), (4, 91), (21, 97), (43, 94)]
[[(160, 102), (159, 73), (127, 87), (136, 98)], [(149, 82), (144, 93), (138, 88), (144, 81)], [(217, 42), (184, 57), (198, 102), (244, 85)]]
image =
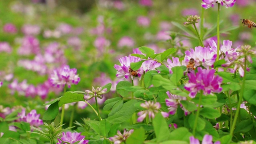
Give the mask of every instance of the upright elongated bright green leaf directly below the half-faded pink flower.
[(157, 142), (170, 140), (168, 124), (160, 112), (158, 112), (158, 114), (156, 114), (155, 118), (153, 119), (153, 126)]

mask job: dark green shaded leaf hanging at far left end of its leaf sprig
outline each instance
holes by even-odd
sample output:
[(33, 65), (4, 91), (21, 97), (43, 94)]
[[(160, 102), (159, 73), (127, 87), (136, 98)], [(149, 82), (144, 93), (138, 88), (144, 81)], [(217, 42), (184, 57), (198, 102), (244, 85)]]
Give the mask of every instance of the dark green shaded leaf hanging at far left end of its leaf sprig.
[(44, 112), (43, 120), (53, 120), (58, 116), (59, 113), (59, 101), (54, 102), (51, 104), (47, 110)]

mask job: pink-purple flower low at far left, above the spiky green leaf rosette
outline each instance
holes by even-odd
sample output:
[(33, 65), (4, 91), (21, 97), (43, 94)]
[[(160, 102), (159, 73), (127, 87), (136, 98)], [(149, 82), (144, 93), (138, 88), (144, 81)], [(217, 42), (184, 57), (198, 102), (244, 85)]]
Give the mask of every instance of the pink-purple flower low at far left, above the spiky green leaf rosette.
[(23, 122), (28, 122), (30, 124), (30, 126), (41, 126), (43, 125), (43, 120), (39, 119), (40, 114), (36, 113), (36, 110), (31, 110), (31, 112), (29, 112), (26, 115), (25, 109), (22, 109), (21, 113), (18, 113), (17, 115), (18, 117), (20, 117), (18, 119), (18, 121), (23, 121)]

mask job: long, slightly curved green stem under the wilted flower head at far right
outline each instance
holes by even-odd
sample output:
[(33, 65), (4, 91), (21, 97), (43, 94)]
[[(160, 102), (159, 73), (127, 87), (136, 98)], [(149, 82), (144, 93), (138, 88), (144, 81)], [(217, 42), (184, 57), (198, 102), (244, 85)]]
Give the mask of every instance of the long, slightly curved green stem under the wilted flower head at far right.
[(238, 119), (238, 115), (239, 115), (239, 112), (240, 112), (240, 105), (242, 103), (242, 98), (243, 98), (243, 95), (244, 95), (245, 79), (246, 79), (246, 56), (244, 57), (244, 78), (243, 78), (243, 82), (242, 82), (242, 89), (240, 91), (240, 96), (238, 98), (238, 104), (237, 104), (237, 108), (236, 108), (236, 115), (234, 117), (234, 122), (233, 122), (231, 130), (230, 130), (230, 135), (231, 136), (233, 136), (233, 134), (234, 134), (236, 121)]

